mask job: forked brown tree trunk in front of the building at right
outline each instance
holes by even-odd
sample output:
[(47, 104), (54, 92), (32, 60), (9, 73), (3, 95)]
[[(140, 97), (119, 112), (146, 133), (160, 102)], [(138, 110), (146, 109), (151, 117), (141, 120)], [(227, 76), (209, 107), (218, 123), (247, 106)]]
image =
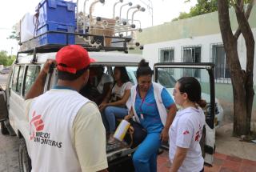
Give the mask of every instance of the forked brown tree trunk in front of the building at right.
[(218, 0), (219, 25), (233, 85), (234, 135), (246, 135), (250, 134), (250, 118), (254, 99), (254, 37), (241, 6), (236, 5), (235, 10), (239, 30), (246, 40), (246, 71), (242, 70), (239, 62), (238, 41), (230, 26), (228, 0)]

